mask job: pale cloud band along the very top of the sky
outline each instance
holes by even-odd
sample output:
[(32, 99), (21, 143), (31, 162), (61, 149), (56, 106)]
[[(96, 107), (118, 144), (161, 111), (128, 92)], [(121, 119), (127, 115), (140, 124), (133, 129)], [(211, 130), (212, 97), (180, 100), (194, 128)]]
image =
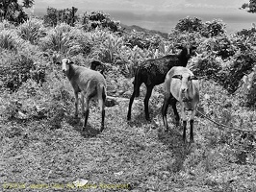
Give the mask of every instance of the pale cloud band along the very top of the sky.
[(79, 11), (130, 11), (130, 12), (186, 12), (197, 10), (234, 10), (246, 0), (37, 0), (36, 8), (54, 7), (64, 9), (76, 7)]

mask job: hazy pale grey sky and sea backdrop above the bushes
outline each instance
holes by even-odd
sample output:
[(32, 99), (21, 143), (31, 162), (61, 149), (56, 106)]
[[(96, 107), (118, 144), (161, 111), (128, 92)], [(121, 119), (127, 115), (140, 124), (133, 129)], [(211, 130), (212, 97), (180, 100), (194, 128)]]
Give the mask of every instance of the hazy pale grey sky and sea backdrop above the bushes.
[(227, 31), (251, 28), (256, 13), (239, 8), (249, 0), (35, 0), (35, 13), (46, 12), (47, 7), (64, 9), (76, 7), (79, 12), (104, 11), (111, 18), (127, 25), (162, 32), (170, 32), (186, 16), (203, 21), (221, 19)]

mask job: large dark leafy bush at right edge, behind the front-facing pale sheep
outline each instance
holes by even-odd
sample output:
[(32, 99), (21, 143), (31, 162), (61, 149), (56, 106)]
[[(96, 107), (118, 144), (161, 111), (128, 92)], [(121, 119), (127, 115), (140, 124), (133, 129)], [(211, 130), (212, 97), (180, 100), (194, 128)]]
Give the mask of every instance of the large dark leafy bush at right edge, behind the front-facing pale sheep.
[(198, 51), (202, 53), (193, 60), (194, 73), (223, 85), (229, 93), (239, 88), (255, 63), (250, 43), (240, 36), (206, 38)]

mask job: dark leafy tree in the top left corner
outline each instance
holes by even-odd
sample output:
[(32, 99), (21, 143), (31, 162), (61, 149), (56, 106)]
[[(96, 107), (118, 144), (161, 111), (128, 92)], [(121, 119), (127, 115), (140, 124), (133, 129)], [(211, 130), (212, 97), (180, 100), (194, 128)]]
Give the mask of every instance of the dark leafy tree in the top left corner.
[(24, 8), (31, 8), (35, 0), (23, 0), (22, 4), (18, 0), (1, 0), (0, 2), (0, 21), (9, 20), (13, 23), (21, 23), (27, 20), (28, 15), (23, 11)]

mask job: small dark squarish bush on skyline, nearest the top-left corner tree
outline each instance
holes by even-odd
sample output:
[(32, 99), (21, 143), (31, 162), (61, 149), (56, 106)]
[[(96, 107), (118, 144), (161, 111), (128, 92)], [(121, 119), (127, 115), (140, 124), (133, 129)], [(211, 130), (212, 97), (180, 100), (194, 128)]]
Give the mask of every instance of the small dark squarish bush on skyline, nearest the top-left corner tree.
[(43, 23), (46, 26), (55, 27), (58, 23), (66, 23), (70, 26), (74, 26), (74, 23), (78, 20), (78, 16), (75, 13), (77, 8), (66, 8), (64, 10), (57, 10), (55, 8), (47, 8), (47, 12), (43, 17)]

